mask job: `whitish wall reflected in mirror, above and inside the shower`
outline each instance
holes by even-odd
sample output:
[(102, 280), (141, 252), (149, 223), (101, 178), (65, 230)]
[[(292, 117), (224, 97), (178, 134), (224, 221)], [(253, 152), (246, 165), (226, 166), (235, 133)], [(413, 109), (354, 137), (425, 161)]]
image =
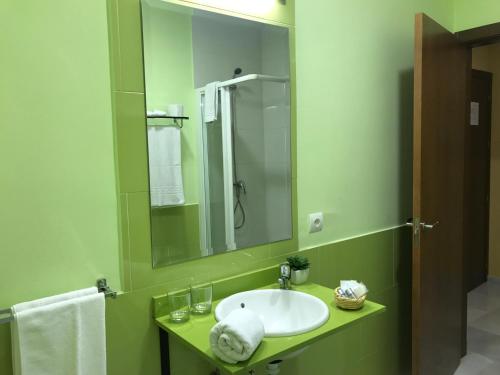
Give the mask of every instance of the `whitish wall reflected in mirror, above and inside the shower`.
[[(242, 75), (289, 74), (287, 30), (204, 12), (194, 13), (192, 27), (196, 87), (231, 79), (236, 68)], [(289, 98), (288, 106), (277, 102), (283, 92), (275, 90), (276, 84), (252, 81), (234, 92), (236, 170), (247, 188), (241, 196), (246, 222), (235, 232), (238, 247), (291, 236), (290, 160), (269, 159), (290, 154)], [(237, 210), (235, 223), (240, 222)]]

